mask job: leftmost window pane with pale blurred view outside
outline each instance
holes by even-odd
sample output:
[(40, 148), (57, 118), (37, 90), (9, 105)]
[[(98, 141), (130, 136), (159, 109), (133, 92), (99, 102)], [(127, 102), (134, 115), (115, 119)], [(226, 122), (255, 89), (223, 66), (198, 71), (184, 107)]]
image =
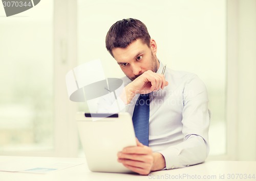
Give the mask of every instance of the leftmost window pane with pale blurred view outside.
[[(2, 6), (0, 14), (5, 15)], [(53, 2), (3, 16), (0, 27), (0, 152), (51, 150)]]

